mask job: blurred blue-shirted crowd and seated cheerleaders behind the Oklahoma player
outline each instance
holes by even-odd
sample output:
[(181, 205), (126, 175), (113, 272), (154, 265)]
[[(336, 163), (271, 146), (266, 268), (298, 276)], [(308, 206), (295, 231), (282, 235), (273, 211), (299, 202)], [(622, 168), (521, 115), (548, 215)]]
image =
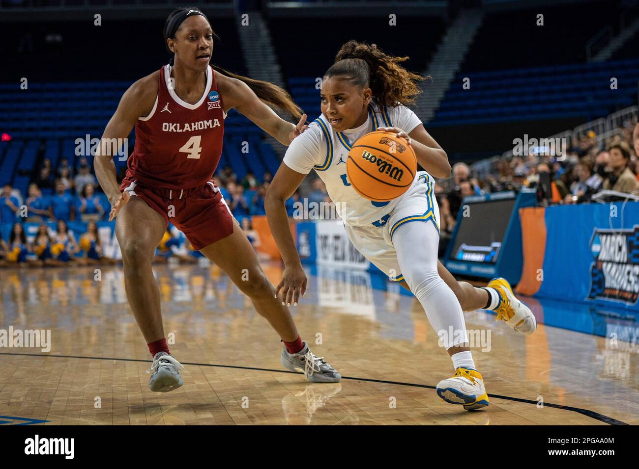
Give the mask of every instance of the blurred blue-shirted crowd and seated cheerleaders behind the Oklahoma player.
[[(107, 220), (110, 204), (87, 158), (81, 157), (77, 168), (70, 167), (66, 158), (61, 159), (58, 168), (52, 168), (51, 161), (45, 158), (36, 174), (29, 183), (27, 194), (11, 184), (5, 184), (1, 189), (0, 227), (10, 225), (10, 230), (5, 229), (8, 234), (0, 236), (0, 267), (112, 264), (114, 260), (104, 256), (98, 235), (98, 224)], [(119, 174), (119, 180), (123, 176)], [(230, 167), (222, 168), (213, 177), (233, 216), (256, 248), (261, 240), (252, 227), (251, 217), (265, 214), (264, 197), (271, 179), (268, 172), (261, 181), (252, 172), (247, 172), (238, 181)], [(298, 198), (296, 193), (286, 202), (289, 216), (293, 215), (293, 203)], [(27, 237), (24, 223), (39, 223), (35, 236)], [(74, 233), (68, 223), (86, 228), (81, 233)], [(192, 263), (201, 257), (184, 235), (169, 225), (156, 250), (154, 262), (165, 263), (176, 258)]]

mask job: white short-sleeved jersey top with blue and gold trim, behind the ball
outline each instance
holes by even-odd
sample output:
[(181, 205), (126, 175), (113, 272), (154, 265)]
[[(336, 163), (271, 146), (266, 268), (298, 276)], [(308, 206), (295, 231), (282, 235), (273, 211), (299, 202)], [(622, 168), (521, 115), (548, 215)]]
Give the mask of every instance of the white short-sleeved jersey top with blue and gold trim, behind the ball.
[[(388, 108), (369, 104), (368, 119), (355, 129), (335, 131), (324, 115), (293, 139), (284, 155), (284, 164), (302, 174), (315, 170), (335, 203), (337, 213), (346, 225), (376, 223), (397, 205), (401, 197), (390, 202), (371, 202), (351, 187), (346, 179), (346, 158), (352, 145), (379, 127), (397, 127), (410, 133), (422, 122), (404, 105)], [(402, 196), (403, 197), (403, 196)]]

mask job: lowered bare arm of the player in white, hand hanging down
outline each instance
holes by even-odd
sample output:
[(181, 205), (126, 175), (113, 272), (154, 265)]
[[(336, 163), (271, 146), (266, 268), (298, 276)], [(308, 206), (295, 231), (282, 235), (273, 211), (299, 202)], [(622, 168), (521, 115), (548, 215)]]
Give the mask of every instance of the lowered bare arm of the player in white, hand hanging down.
[(284, 260), (282, 280), (277, 285), (275, 294), (279, 294), (279, 291), (282, 290), (282, 301), (288, 306), (291, 304), (296, 306), (300, 299), (300, 293), (304, 295), (307, 279), (297, 249), (295, 249), (293, 235), (291, 235), (285, 201), (293, 195), (305, 177), (305, 174), (298, 173), (282, 163), (268, 186), (264, 198), (268, 226), (271, 228), (277, 249)]

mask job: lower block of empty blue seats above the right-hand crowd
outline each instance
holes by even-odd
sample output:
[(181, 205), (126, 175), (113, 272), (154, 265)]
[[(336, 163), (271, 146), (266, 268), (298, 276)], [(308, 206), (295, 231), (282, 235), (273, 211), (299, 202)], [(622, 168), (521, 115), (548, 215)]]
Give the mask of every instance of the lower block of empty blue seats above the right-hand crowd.
[[(460, 72), (432, 125), (608, 115), (635, 102), (639, 59)], [(470, 78), (470, 90), (462, 88)], [(617, 89), (610, 79), (617, 78)]]

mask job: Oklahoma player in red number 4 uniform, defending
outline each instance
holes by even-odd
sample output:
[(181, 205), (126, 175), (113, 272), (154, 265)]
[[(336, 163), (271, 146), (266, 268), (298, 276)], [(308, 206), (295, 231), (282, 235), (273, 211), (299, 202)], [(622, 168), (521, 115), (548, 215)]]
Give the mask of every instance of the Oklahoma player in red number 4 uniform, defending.
[(306, 116), (297, 126), (284, 121), (265, 103), (299, 116), (286, 91), (211, 66), (213, 37), (201, 11), (180, 8), (169, 15), (164, 38), (173, 59), (125, 92), (102, 137), (102, 142), (127, 138), (135, 125), (135, 149), (121, 185), (113, 149), (101, 145), (95, 158), (96, 176), (111, 202), (109, 220), (117, 216), (127, 299), (153, 356), (149, 388), (167, 392), (183, 384), (183, 366), (166, 343), (160, 293), (151, 270), (169, 221), (226, 272), (272, 325), (284, 342), (282, 365), (304, 371), (314, 382), (337, 382), (339, 373), (302, 342), (288, 308), (277, 299), (212, 181), (229, 109), (235, 108), (284, 145), (305, 129)]

